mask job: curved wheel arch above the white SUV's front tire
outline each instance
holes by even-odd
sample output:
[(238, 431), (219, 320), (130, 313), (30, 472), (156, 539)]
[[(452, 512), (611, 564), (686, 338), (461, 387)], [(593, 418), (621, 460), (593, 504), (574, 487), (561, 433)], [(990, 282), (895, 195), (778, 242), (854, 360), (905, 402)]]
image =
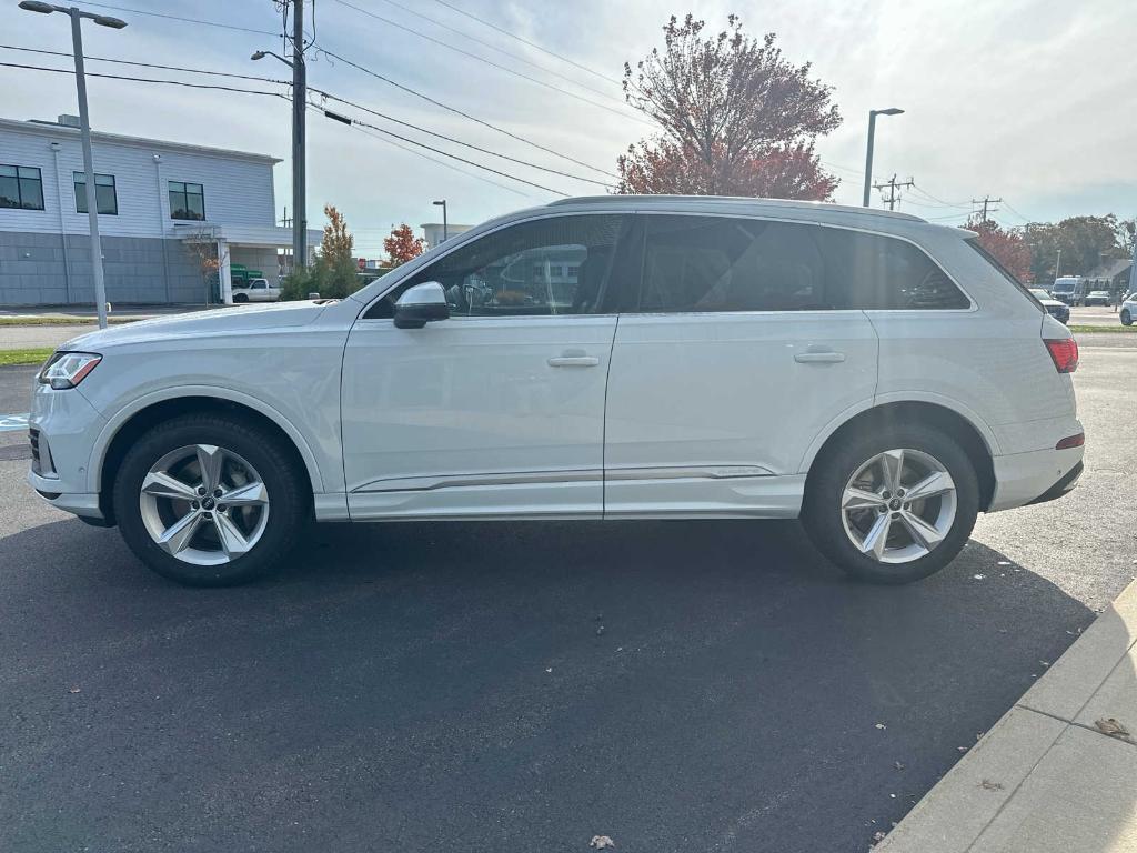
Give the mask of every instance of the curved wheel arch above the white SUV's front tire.
[(266, 403), (224, 388), (180, 388), (140, 398), (107, 422), (91, 452), (88, 477), (91, 491), (99, 495), (103, 517), (114, 522), (110, 494), (118, 467), (134, 439), (151, 426), (191, 412), (239, 415), (279, 436), (305, 471), (313, 494), (324, 490), (316, 457), (304, 436), (280, 412)]

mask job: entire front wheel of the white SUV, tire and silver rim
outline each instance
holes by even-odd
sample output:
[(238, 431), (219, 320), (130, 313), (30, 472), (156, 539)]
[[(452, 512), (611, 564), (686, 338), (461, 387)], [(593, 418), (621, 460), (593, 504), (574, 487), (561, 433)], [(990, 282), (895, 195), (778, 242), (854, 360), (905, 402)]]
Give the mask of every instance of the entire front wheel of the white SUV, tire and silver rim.
[(115, 480), (131, 550), (190, 586), (242, 583), (288, 553), (307, 486), (276, 436), (239, 417), (184, 415), (134, 444)]

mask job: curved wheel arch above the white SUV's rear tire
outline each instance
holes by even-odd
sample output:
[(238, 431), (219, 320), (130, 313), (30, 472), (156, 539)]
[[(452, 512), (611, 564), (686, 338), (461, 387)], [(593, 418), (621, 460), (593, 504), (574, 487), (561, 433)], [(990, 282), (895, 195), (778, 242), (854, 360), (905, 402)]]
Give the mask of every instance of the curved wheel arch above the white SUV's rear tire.
[(844, 437), (864, 430), (887, 429), (896, 423), (923, 423), (946, 432), (963, 448), (974, 466), (979, 480), (979, 507), (990, 506), (995, 495), (995, 467), (993, 457), (997, 453), (994, 433), (973, 413), (964, 414), (956, 407), (940, 401), (929, 400), (893, 400), (880, 403), (847, 413), (837, 419), (819, 436), (802, 463), (802, 472), (806, 473), (806, 490), (815, 470), (814, 462), (824, 457), (832, 447), (840, 444)]

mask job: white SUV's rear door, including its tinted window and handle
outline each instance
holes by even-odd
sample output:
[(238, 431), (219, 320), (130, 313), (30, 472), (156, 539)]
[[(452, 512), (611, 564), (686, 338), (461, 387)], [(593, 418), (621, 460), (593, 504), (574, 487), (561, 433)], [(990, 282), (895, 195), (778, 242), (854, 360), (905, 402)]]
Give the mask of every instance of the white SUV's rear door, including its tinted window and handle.
[(644, 222), (609, 371), (605, 514), (796, 515), (810, 445), (872, 401), (872, 324), (815, 226)]

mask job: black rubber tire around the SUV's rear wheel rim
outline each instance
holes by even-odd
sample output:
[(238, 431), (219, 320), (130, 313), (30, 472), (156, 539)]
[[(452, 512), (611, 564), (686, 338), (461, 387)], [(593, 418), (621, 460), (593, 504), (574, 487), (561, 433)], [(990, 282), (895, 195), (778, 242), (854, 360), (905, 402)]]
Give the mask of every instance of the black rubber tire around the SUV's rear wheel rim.
[[(956, 512), (947, 535), (924, 556), (907, 563), (882, 563), (866, 556), (845, 531), (841, 497), (854, 472), (873, 456), (891, 449), (913, 449), (935, 457), (955, 483)], [(960, 445), (933, 426), (894, 424), (838, 437), (814, 461), (802, 506), (802, 521), (818, 550), (857, 580), (911, 583), (935, 574), (971, 536), (979, 512), (979, 481)]]

